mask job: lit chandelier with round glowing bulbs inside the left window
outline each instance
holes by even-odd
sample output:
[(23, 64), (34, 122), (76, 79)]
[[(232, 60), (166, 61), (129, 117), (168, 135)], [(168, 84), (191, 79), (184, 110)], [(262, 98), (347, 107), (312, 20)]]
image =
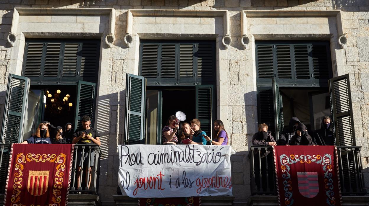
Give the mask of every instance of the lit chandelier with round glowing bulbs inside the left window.
[(69, 102), (69, 94), (65, 97), (60, 97), (61, 90), (56, 90), (54, 96), (46, 91), (46, 104), (45, 110), (51, 114), (65, 114), (70, 112), (70, 108), (73, 106), (72, 102)]

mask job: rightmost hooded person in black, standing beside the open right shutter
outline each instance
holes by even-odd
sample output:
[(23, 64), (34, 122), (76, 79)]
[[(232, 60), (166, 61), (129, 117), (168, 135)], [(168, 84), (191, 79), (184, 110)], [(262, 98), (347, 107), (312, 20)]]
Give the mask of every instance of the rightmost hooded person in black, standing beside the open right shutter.
[[(328, 122), (329, 123), (325, 123)], [(334, 145), (333, 132), (330, 130), (332, 124), (332, 119), (330, 116), (324, 116), (321, 122), (321, 128), (315, 130), (314, 132), (314, 142), (318, 145), (327, 146)]]

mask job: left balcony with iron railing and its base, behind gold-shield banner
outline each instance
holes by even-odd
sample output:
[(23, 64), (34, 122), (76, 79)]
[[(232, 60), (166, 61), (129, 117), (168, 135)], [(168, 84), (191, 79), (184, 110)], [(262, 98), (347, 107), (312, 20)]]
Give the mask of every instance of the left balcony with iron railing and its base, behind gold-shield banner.
[[(10, 155), (11, 144), (0, 144), (0, 198), (4, 198), (6, 178), (8, 174), (8, 162)], [(80, 153), (80, 156), (77, 154)], [(89, 163), (91, 160), (91, 153), (95, 153), (93, 167), (91, 170), (91, 184), (90, 187), (86, 182), (90, 181), (89, 175), (86, 178), (85, 168), (81, 168), (82, 178), (79, 179), (79, 184), (77, 182), (78, 177), (78, 165), (77, 165), (77, 157), (78, 158), (86, 158), (86, 162)], [(85, 157), (85, 154), (89, 154)], [(96, 144), (88, 145), (88, 144), (75, 144), (73, 162), (72, 162), (72, 174), (70, 176), (70, 189), (69, 189), (69, 198), (68, 205), (69, 206), (77, 206), (77, 205), (101, 205), (99, 199), (99, 166), (100, 166), (100, 156), (101, 151), (99, 146)], [(80, 185), (77, 187), (77, 185)], [(0, 203), (2, 205), (3, 202)]]

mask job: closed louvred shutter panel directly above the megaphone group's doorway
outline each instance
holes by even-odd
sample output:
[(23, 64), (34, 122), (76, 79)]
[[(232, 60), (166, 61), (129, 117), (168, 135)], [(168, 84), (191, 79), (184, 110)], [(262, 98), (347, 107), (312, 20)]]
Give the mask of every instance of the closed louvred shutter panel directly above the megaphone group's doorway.
[(215, 81), (214, 41), (142, 41), (139, 75), (148, 85), (199, 85)]

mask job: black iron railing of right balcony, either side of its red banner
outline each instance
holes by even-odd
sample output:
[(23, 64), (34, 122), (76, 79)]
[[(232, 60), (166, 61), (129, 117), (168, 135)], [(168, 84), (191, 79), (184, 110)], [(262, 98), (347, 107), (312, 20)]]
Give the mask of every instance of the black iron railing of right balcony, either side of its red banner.
[[(360, 151), (361, 146), (337, 146), (342, 195), (366, 194)], [(272, 146), (251, 146), (249, 158), (251, 195), (277, 195)]]

